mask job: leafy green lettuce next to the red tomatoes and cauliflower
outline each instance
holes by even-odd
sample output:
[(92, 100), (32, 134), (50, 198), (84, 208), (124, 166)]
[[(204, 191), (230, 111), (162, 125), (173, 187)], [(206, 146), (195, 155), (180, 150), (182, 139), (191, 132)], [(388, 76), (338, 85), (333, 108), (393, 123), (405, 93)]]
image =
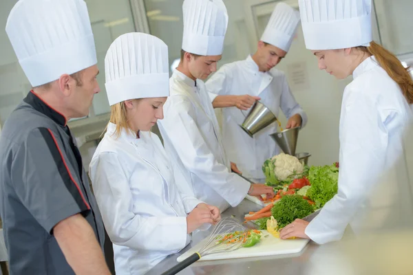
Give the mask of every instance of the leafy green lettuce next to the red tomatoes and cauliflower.
[(311, 188), (306, 195), (315, 202), (315, 208), (321, 208), (337, 194), (339, 168), (335, 164), (312, 166), (308, 179), (311, 182)]

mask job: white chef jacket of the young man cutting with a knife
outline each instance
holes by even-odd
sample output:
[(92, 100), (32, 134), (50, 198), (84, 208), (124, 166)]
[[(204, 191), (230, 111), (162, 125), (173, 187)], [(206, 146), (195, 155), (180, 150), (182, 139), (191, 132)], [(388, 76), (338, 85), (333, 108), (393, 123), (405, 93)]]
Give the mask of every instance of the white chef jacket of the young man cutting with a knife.
[[(158, 122), (181, 192), (220, 208), (237, 206), (251, 184), (235, 173), (226, 157), (218, 121), (201, 80), (178, 70), (169, 80), (171, 96)], [(190, 184), (187, 184), (189, 182)]]

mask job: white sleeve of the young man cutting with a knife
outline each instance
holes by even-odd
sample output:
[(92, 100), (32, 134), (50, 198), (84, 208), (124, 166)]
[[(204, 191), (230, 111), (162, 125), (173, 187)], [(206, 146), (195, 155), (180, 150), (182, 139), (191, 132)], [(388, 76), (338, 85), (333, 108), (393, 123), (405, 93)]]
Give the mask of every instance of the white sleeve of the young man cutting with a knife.
[(168, 100), (170, 105), (160, 125), (182, 164), (202, 179), (202, 184), (213, 188), (231, 206), (237, 206), (246, 197), (251, 184), (215, 159), (194, 120), (195, 110), (191, 102), (183, 96)]

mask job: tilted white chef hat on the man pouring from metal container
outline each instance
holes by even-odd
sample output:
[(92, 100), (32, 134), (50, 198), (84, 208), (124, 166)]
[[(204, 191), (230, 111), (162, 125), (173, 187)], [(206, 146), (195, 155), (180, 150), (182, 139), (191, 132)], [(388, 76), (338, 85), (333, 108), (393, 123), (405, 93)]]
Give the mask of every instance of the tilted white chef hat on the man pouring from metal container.
[(278, 3), (266, 25), (261, 41), (288, 52), (299, 24), (299, 12), (286, 3)]

